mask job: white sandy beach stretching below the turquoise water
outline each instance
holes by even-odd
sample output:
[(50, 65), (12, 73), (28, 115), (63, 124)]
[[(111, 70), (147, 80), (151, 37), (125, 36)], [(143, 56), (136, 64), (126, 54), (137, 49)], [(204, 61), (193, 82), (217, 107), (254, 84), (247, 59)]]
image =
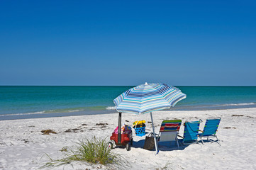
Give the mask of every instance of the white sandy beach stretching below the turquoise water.
[[(243, 116), (232, 116), (243, 115)], [(160, 146), (159, 154), (143, 147), (144, 137), (134, 135), (134, 147), (130, 151), (123, 148), (113, 149), (113, 152), (126, 157), (130, 162), (127, 169), (256, 169), (256, 108), (241, 108), (216, 111), (159, 111), (153, 113), (156, 131), (159, 132), (162, 120), (174, 118), (185, 120), (203, 120), (221, 117), (218, 128), (217, 142), (206, 142), (204, 145), (189, 145), (184, 149)], [(146, 130), (150, 132), (150, 114), (122, 114), (122, 123), (132, 124), (134, 120), (146, 120)], [(108, 123), (106, 128), (96, 123)], [(87, 124), (87, 125), (82, 125)], [(118, 114), (84, 115), (62, 118), (40, 118), (27, 120), (0, 121), (0, 169), (38, 169), (49, 161), (45, 153), (53, 159), (64, 155), (62, 147), (72, 147), (83, 137), (109, 137), (118, 124)], [(68, 129), (79, 128), (77, 132), (65, 132)], [(41, 130), (55, 130), (57, 134), (42, 135)], [(184, 130), (183, 126), (179, 132)], [(141, 141), (140, 141), (141, 140)], [(79, 162), (59, 166), (54, 169), (86, 169), (104, 166), (89, 166)]]

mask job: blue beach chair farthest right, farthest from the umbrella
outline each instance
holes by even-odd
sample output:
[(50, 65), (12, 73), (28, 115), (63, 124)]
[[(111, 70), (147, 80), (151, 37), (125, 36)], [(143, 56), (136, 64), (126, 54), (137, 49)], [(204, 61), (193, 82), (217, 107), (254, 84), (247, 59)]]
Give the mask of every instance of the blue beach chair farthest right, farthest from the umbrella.
[(203, 137), (207, 137), (207, 140), (209, 137), (216, 137), (217, 140), (213, 142), (218, 142), (219, 145), (221, 145), (220, 140), (218, 140), (218, 137), (216, 135), (216, 132), (218, 130), (218, 125), (221, 122), (221, 118), (208, 118), (206, 120), (206, 124), (204, 125), (204, 130), (200, 130), (201, 133), (199, 133), (199, 137), (201, 141), (204, 144)]

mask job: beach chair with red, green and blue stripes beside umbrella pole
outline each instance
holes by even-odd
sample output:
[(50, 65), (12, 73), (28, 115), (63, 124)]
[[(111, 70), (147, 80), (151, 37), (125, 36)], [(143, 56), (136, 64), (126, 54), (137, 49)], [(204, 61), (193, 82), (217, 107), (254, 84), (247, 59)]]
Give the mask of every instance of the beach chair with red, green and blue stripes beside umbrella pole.
[(182, 120), (163, 120), (159, 135), (157, 137), (158, 142), (177, 142), (179, 148), (179, 141), (177, 139), (177, 134), (179, 132)]

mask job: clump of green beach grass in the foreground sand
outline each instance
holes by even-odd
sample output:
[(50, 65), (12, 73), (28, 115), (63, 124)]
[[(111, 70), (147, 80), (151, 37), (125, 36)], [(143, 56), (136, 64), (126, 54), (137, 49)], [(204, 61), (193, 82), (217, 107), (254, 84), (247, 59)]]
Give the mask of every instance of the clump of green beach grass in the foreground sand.
[(108, 141), (106, 139), (96, 137), (92, 137), (91, 139), (84, 138), (77, 145), (73, 146), (72, 149), (66, 148), (65, 157), (62, 159), (51, 159), (46, 154), (50, 162), (41, 166), (41, 169), (71, 164), (72, 162), (90, 165), (101, 164), (106, 167), (111, 166), (111, 169), (123, 169), (130, 166), (124, 157), (108, 149)]

